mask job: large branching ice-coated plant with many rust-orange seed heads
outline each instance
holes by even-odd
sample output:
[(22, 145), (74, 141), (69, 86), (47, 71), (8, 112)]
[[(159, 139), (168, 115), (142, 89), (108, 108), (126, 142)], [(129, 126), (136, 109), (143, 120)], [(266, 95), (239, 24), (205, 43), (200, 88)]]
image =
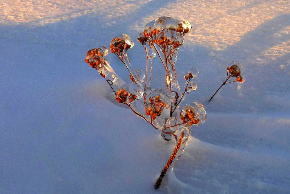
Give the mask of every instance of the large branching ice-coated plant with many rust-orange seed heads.
[[(133, 40), (126, 34), (113, 38), (110, 42), (110, 51), (129, 71), (128, 78), (131, 80), (129, 82), (124, 82), (104, 58), (108, 54), (106, 47), (91, 49), (85, 58), (85, 61), (105, 78), (119, 103), (128, 106), (137, 116), (160, 130), (165, 140), (168, 141), (172, 136), (174, 137), (175, 149), (157, 179), (155, 188), (159, 188), (166, 171), (172, 168), (181, 156), (192, 125), (200, 125), (206, 120), (206, 111), (199, 102), (187, 104), (181, 110), (179, 108), (186, 94), (197, 89), (194, 83), (196, 75), (189, 72), (184, 76), (184, 89), (180, 93), (175, 69), (178, 48), (183, 44), (183, 36), (191, 30), (191, 24), (188, 21), (171, 17), (159, 17), (150, 21), (137, 37), (146, 54), (145, 71), (134, 69), (129, 61), (127, 52), (133, 48)], [(160, 88), (151, 88), (154, 69), (152, 60), (157, 55), (165, 70), (165, 85)], [(177, 134), (180, 134), (179, 138)]]

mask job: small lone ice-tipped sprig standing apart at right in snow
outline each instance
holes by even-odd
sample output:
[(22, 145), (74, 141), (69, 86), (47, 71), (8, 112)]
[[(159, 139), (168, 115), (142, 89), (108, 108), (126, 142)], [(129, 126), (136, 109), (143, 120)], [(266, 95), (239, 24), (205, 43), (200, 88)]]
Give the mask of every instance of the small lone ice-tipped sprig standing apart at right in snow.
[[(222, 83), (222, 85), (218, 88), (218, 90), (213, 94), (213, 96), (215, 96), (215, 94), (220, 90), (220, 88), (225, 85), (225, 84), (229, 84), (229, 83), (233, 83), (233, 82), (244, 82), (243, 77), (241, 77), (241, 69), (238, 66), (238, 62), (232, 61), (229, 66), (231, 65), (231, 67), (228, 67), (228, 73), (226, 75), (226, 80)], [(211, 96), (211, 99), (213, 99), (213, 96)], [(209, 101), (211, 101), (211, 99), (209, 99)]]

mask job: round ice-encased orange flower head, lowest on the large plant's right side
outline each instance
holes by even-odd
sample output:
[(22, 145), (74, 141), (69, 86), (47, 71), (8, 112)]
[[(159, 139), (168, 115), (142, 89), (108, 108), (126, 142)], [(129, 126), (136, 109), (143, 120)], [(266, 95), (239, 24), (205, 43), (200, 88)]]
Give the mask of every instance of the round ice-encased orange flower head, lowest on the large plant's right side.
[(200, 125), (206, 120), (206, 111), (201, 103), (194, 102), (192, 106), (186, 105), (180, 111), (180, 120), (186, 127)]

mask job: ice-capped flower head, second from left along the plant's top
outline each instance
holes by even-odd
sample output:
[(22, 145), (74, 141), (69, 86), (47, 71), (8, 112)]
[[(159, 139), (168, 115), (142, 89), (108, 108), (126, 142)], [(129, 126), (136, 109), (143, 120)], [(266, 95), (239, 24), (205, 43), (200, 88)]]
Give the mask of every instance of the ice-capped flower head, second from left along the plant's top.
[(122, 34), (121, 37), (113, 38), (110, 43), (111, 53), (126, 53), (127, 50), (133, 48), (133, 40), (126, 34)]

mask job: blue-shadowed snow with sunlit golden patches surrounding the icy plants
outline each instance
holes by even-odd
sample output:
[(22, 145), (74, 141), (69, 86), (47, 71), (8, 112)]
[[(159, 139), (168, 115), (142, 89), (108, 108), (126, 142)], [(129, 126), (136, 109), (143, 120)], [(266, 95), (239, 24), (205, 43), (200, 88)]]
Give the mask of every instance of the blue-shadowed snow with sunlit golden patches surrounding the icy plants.
[[(0, 193), (290, 193), (289, 8), (288, 0), (4, 1)], [(160, 16), (193, 26), (176, 68), (180, 83), (182, 72), (199, 71), (183, 105), (200, 101), (207, 120), (155, 190), (174, 142), (112, 103), (84, 58), (126, 33), (129, 58), (144, 69), (137, 35)], [(108, 60), (127, 76), (115, 55)], [(247, 80), (208, 102), (231, 61)], [(157, 58), (155, 67), (162, 71)]]

